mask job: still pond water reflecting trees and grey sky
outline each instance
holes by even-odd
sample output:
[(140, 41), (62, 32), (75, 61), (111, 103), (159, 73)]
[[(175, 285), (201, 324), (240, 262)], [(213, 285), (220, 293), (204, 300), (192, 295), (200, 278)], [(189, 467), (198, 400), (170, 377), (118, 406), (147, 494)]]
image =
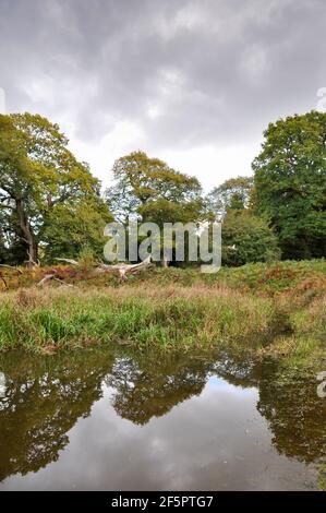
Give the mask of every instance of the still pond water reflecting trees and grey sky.
[(0, 490), (312, 490), (315, 375), (124, 347), (0, 358)]

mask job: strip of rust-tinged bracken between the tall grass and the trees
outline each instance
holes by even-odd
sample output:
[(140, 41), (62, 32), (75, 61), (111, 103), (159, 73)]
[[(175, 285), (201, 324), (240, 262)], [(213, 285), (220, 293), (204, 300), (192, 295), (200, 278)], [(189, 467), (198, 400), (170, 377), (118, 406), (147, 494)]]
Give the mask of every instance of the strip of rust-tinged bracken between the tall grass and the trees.
[[(7, 290), (17, 290), (35, 286), (47, 274), (56, 271), (57, 276), (68, 284), (81, 289), (88, 287), (141, 287), (168, 286), (181, 287), (207, 286), (234, 288), (238, 291), (254, 293), (259, 296), (273, 297), (282, 293), (309, 291), (322, 289), (326, 294), (326, 260), (285, 261), (270, 264), (247, 264), (241, 267), (221, 267), (216, 274), (202, 274), (196, 267), (152, 266), (137, 275), (130, 276), (123, 285), (119, 276), (113, 274), (94, 275), (89, 267), (53, 265), (26, 270), (8, 270), (0, 267), (5, 278)], [(4, 283), (0, 281), (0, 289)]]

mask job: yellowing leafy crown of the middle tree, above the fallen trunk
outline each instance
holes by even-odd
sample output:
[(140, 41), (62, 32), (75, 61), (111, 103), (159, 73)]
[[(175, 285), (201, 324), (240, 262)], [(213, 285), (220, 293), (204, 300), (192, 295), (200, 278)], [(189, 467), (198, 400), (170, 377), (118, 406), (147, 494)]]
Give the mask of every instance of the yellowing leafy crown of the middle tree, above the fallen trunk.
[(107, 201), (118, 219), (129, 215), (143, 222), (190, 222), (201, 217), (203, 200), (198, 180), (169, 168), (158, 158), (134, 152), (113, 166), (114, 186)]

